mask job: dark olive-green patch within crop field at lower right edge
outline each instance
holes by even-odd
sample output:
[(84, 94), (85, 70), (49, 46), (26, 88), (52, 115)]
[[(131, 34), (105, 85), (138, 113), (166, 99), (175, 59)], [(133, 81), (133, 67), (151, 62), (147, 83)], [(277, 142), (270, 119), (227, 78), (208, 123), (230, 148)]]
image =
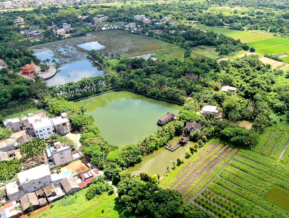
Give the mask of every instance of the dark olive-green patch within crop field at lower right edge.
[(268, 202), (275, 204), (284, 210), (289, 211), (289, 191), (281, 188), (280, 186), (274, 186), (264, 197)]

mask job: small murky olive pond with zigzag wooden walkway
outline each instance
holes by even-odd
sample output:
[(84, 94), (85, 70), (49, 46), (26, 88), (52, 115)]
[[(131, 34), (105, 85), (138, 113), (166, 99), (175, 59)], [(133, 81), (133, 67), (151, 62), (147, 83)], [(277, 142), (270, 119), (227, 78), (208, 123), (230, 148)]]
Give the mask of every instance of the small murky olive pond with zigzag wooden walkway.
[[(180, 138), (182, 136), (175, 136), (169, 143), (174, 146)], [(169, 165), (170, 168), (173, 166), (170, 161), (176, 161), (178, 157), (184, 158), (185, 150), (194, 144), (195, 142), (189, 141), (185, 146), (180, 146), (175, 151), (169, 151), (165, 147), (161, 147), (143, 156), (143, 160), (139, 164), (128, 167), (128, 171), (134, 175), (138, 175), (140, 172), (148, 172), (150, 175), (160, 174), (160, 176), (163, 176), (167, 172), (167, 166)]]

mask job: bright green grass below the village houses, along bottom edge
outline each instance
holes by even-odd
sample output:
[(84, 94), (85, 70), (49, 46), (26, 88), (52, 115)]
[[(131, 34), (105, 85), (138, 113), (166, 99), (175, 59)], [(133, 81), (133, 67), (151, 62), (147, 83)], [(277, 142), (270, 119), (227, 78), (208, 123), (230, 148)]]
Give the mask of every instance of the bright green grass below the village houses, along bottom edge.
[(66, 198), (72, 198), (74, 196), (70, 195), (66, 198), (60, 199), (53, 202), (53, 207), (47, 207), (47, 210), (38, 213), (39, 210), (32, 212), (30, 215), (24, 215), (22, 217), (33, 217), (33, 218), (76, 218), (76, 217), (121, 217), (121, 206), (119, 205), (118, 199), (115, 194), (107, 195), (103, 194), (101, 196), (95, 197), (90, 201), (85, 198), (86, 189), (82, 189), (77, 192), (77, 198), (75, 202), (70, 205), (66, 205), (68, 202)]

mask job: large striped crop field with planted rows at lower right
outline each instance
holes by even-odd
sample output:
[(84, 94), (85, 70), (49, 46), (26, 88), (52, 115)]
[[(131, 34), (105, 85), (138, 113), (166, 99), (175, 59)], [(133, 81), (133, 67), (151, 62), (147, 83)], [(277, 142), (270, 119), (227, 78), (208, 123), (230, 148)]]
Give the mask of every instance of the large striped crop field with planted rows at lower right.
[(289, 217), (288, 143), (283, 125), (267, 128), (252, 151), (209, 141), (160, 186), (215, 217)]

